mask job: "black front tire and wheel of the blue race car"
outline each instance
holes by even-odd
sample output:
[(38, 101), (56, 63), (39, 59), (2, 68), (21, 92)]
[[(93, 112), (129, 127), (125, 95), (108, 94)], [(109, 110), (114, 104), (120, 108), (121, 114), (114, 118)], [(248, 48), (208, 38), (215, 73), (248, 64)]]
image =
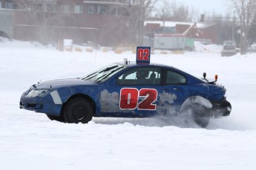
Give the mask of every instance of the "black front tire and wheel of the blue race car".
[(64, 117), (67, 123), (88, 123), (93, 118), (93, 107), (89, 101), (75, 98), (65, 106)]

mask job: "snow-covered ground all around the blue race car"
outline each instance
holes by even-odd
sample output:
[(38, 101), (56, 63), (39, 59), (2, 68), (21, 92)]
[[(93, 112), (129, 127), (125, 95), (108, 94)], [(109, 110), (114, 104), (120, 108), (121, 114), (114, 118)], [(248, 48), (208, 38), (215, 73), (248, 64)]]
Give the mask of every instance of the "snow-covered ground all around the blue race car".
[(19, 109), (22, 92), (38, 81), (81, 77), (123, 58), (135, 55), (0, 41), (0, 169), (256, 169), (256, 54), (223, 58), (220, 47), (197, 44), (197, 52), (151, 55), (197, 77), (218, 74), (232, 113), (206, 129), (162, 118), (68, 124)]

